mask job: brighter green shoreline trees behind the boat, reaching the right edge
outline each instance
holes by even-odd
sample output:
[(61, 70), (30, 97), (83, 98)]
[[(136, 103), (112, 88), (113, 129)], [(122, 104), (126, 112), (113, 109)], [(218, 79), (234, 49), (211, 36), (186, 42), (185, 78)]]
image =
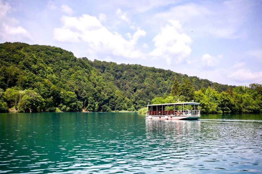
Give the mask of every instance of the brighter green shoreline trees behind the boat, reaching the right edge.
[(202, 113), (262, 113), (262, 85), (252, 83), (249, 87), (228, 88), (219, 93), (211, 87), (195, 91), (191, 82), (179, 84), (175, 78), (171, 94), (152, 99), (152, 104), (187, 102), (201, 103)]

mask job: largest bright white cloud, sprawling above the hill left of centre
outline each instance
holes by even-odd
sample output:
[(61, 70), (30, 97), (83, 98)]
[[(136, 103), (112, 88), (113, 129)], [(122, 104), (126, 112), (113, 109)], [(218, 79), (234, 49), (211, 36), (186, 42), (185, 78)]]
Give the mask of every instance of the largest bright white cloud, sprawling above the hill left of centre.
[(144, 30), (137, 29), (126, 40), (117, 32), (110, 32), (94, 16), (83, 14), (81, 17), (62, 16), (63, 26), (54, 29), (54, 39), (59, 42), (84, 42), (89, 54), (102, 52), (126, 58), (143, 58), (144, 54), (135, 49)]

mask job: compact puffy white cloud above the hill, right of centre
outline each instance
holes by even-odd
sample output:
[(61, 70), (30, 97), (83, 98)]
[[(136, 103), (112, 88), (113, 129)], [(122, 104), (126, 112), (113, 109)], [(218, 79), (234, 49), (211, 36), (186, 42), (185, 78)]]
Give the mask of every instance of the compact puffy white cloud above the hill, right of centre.
[(161, 33), (153, 38), (155, 49), (149, 53), (154, 58), (165, 58), (167, 63), (181, 63), (191, 53), (191, 38), (180, 32), (182, 26), (178, 21), (169, 21), (161, 28)]

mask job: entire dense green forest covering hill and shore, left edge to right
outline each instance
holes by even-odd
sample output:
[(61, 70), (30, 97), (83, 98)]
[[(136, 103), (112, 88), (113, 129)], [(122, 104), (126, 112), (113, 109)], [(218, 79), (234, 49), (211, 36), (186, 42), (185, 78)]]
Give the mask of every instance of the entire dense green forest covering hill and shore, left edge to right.
[(141, 65), (76, 58), (58, 47), (0, 44), (0, 112), (137, 111), (201, 103), (202, 113), (261, 113), (262, 85), (229, 86)]

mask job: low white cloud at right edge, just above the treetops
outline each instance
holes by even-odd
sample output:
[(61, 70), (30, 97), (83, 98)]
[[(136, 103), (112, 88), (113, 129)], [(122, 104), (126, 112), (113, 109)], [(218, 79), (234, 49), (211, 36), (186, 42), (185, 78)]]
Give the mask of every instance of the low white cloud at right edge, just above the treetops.
[(238, 83), (244, 82), (255, 82), (255, 83), (262, 83), (262, 71), (252, 72), (250, 69), (247, 68), (245, 63), (236, 63), (232, 67), (232, 73), (228, 75), (228, 78), (234, 80)]

